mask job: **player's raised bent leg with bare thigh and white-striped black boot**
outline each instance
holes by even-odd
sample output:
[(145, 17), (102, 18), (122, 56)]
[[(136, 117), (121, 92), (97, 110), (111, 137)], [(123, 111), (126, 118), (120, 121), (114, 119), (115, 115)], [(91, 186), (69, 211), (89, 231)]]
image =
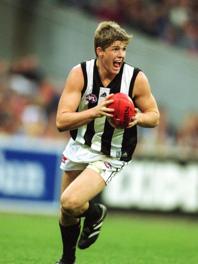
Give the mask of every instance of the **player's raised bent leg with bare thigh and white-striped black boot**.
[(106, 207), (94, 204), (91, 199), (105, 186), (105, 181), (96, 171), (86, 168), (62, 193), (61, 204), (65, 213), (76, 218), (85, 217), (78, 243), (81, 249), (93, 244), (100, 233)]

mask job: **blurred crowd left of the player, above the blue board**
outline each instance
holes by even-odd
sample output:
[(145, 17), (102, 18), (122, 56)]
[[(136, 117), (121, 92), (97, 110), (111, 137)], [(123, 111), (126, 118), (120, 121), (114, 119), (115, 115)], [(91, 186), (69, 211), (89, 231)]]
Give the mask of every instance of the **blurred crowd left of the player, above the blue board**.
[(67, 139), (69, 132), (60, 133), (55, 125), (59, 98), (35, 56), (0, 61), (0, 133)]

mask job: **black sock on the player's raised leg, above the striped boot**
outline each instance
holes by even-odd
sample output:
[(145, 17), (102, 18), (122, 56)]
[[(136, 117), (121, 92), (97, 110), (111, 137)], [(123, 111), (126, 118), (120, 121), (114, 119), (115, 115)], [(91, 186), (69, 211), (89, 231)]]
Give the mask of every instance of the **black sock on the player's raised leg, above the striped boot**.
[(86, 222), (92, 223), (92, 222), (95, 222), (97, 219), (99, 219), (100, 216), (101, 216), (100, 206), (98, 204), (94, 204), (94, 202), (90, 200), (87, 211), (75, 217), (76, 218), (86, 217)]

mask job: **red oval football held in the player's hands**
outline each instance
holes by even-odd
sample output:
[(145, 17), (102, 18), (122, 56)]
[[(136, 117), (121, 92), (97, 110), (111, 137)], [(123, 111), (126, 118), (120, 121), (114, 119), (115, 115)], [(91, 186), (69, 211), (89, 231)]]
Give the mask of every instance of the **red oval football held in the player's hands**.
[(115, 93), (110, 99), (113, 99), (114, 102), (107, 108), (113, 108), (115, 112), (113, 117), (107, 117), (107, 120), (114, 128), (126, 128), (135, 114), (133, 101), (126, 93)]

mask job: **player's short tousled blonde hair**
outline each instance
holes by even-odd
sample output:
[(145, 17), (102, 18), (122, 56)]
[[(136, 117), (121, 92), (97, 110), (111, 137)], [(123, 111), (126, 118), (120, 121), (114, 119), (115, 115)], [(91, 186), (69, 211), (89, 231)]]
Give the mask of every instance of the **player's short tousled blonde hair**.
[(116, 40), (123, 41), (127, 45), (131, 37), (132, 35), (128, 35), (117, 23), (113, 21), (101, 22), (94, 35), (94, 51), (96, 57), (98, 57), (96, 51), (98, 47), (101, 47), (104, 51)]

